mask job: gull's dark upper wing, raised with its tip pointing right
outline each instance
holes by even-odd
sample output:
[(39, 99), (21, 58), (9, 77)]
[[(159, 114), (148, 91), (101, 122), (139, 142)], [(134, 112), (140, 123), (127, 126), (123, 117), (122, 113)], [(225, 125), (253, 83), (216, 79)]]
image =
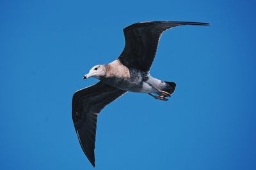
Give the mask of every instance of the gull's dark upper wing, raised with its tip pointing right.
[(202, 22), (139, 22), (124, 28), (125, 47), (118, 59), (127, 67), (149, 71), (161, 34), (180, 25), (209, 25)]

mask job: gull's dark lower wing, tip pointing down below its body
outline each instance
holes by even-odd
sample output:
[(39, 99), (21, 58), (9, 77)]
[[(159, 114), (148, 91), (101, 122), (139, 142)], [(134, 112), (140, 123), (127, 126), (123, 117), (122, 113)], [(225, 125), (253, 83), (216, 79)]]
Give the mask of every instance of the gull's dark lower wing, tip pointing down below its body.
[(97, 117), (100, 111), (126, 91), (96, 83), (78, 90), (72, 99), (72, 118), (79, 142), (86, 157), (95, 166), (94, 148)]

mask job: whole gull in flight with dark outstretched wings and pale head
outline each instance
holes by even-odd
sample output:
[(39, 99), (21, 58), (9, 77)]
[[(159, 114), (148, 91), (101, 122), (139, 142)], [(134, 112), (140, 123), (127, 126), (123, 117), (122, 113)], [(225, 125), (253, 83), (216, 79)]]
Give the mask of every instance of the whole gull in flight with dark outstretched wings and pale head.
[(150, 75), (159, 39), (167, 29), (180, 25), (210, 25), (202, 22), (138, 22), (124, 28), (125, 47), (120, 56), (109, 64), (93, 66), (86, 78), (100, 81), (78, 90), (72, 99), (72, 119), (83, 152), (95, 167), (95, 135), (100, 111), (127, 92), (149, 94), (167, 101), (176, 87), (175, 82), (163, 81)]

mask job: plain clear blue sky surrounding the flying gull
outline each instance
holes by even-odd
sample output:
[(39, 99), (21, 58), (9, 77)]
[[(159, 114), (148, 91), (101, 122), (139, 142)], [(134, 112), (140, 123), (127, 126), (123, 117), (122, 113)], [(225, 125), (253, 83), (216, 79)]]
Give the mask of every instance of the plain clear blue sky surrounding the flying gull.
[(99, 115), (95, 169), (256, 169), (254, 1), (0, 3), (0, 169), (93, 169), (71, 118), (72, 95), (116, 59), (122, 29), (178, 20), (150, 73), (169, 101), (128, 93)]

